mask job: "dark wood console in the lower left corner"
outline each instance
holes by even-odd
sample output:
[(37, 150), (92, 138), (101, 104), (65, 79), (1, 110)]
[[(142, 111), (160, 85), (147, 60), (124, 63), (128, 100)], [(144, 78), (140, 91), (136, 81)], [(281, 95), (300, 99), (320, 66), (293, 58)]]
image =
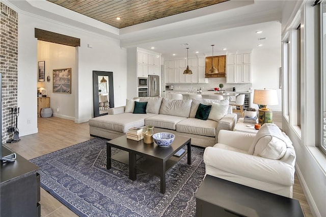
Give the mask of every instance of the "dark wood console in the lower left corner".
[[(11, 153), (5, 146), (2, 150)], [(39, 170), (19, 154), (14, 162), (1, 162), (0, 216), (41, 216)]]

